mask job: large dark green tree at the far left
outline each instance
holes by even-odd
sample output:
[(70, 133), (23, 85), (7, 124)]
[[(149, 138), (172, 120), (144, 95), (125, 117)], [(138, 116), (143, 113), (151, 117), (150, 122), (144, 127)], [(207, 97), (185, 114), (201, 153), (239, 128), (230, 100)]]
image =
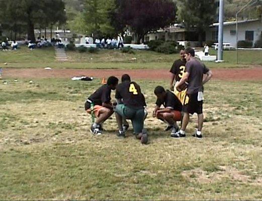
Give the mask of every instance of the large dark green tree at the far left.
[[(12, 0), (0, 2), (0, 22), (6, 30), (26, 27), (28, 39), (35, 41), (34, 29), (48, 24), (65, 23), (63, 0)], [(4, 9), (3, 9), (4, 8)], [(15, 37), (16, 38), (16, 37)]]

